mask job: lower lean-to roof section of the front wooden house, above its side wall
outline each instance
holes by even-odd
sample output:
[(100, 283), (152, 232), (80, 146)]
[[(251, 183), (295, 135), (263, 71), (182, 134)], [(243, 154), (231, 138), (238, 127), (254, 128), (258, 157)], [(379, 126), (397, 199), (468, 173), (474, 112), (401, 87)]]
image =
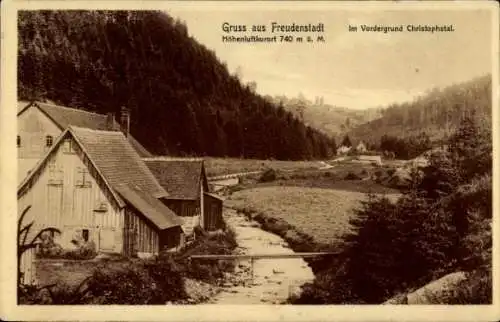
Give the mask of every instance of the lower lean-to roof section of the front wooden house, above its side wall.
[(159, 229), (181, 226), (184, 221), (161, 201), (144, 193), (135, 185), (119, 185), (116, 191)]

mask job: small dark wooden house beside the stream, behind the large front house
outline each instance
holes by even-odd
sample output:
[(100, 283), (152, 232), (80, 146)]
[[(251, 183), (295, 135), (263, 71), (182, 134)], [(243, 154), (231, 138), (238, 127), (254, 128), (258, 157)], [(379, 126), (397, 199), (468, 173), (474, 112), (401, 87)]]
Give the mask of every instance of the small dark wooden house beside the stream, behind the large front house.
[(187, 235), (198, 224), (207, 231), (222, 227), (222, 200), (209, 193), (203, 160), (168, 157), (143, 160), (168, 192), (161, 199), (183, 218)]

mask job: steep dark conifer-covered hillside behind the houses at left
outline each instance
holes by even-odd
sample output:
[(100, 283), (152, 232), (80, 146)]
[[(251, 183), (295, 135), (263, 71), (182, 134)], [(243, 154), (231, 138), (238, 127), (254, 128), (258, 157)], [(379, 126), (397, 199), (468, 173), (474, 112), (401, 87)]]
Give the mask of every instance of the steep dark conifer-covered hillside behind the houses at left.
[(132, 134), (155, 154), (309, 159), (335, 148), (162, 12), (21, 12), (18, 46), (19, 99), (127, 106)]

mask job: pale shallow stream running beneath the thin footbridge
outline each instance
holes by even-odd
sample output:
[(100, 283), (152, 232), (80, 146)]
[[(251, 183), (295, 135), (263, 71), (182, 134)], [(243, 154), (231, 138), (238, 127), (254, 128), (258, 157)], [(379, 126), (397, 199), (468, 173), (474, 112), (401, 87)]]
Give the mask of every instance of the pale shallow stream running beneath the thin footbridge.
[[(236, 232), (239, 253), (293, 253), (281, 237), (263, 231), (257, 223), (236, 211), (225, 208), (224, 217)], [(253, 266), (252, 279), (250, 261), (237, 263), (235, 274), (228, 276), (228, 282), (210, 303), (278, 304), (298, 292), (300, 285), (314, 279), (311, 268), (302, 258), (259, 259)]]

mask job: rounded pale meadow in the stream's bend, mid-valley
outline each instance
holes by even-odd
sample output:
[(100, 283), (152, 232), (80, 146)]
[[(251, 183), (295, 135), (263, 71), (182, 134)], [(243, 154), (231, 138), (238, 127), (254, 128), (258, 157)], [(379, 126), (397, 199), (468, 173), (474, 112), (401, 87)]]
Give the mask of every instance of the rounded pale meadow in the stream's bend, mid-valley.
[(316, 242), (327, 244), (349, 231), (352, 210), (365, 196), (341, 190), (274, 186), (237, 191), (226, 204), (282, 219)]

